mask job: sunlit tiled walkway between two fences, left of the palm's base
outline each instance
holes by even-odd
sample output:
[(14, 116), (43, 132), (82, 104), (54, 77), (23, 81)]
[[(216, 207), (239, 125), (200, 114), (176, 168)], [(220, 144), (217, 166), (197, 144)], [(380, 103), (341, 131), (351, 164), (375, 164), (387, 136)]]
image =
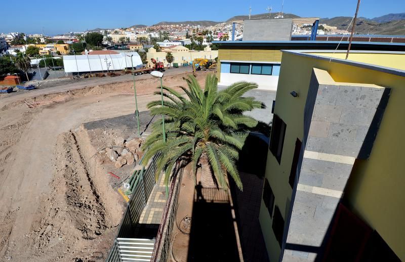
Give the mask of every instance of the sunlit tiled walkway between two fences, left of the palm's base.
[(166, 205), (165, 176), (161, 174), (139, 218), (139, 224), (159, 224)]

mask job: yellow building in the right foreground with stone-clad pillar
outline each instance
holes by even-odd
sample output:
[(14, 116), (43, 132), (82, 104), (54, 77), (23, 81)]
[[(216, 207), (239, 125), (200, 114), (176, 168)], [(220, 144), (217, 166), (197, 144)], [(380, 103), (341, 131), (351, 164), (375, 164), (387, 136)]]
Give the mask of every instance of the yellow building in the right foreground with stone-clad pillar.
[(405, 53), (345, 55), (282, 51), (259, 215), (270, 261), (405, 260)]

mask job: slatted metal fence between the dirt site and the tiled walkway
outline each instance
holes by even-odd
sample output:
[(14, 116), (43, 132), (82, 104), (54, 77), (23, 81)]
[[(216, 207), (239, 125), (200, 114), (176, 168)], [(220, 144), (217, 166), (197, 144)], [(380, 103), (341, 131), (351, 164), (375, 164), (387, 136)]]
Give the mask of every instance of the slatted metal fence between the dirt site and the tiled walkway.
[[(142, 242), (149, 240), (148, 243), (150, 244), (150, 239), (141, 240), (139, 238), (136, 238), (134, 232), (139, 222), (139, 217), (141, 216), (141, 213), (145, 208), (146, 202), (148, 201), (148, 198), (152, 193), (153, 187), (155, 185), (154, 171), (156, 170), (156, 160), (158, 157), (158, 155), (155, 155), (146, 168), (144, 167), (142, 168), (142, 170), (134, 171), (129, 180), (132, 196), (130, 198), (130, 201), (127, 203), (127, 208), (119, 225), (117, 237), (112, 244), (110, 252), (107, 256), (107, 262), (122, 262), (126, 261), (127, 259), (129, 259), (128, 257), (131, 256), (141, 256), (140, 254), (138, 254), (142, 253), (142, 250), (139, 250), (142, 249), (139, 247), (139, 241)], [(142, 160), (140, 161), (140, 163), (141, 162)], [(132, 241), (129, 239), (139, 241)], [(122, 240), (128, 241), (124, 243)], [(136, 249), (138, 253), (132, 255), (128, 254), (131, 252), (127, 249), (131, 250), (131, 248), (133, 251), (135, 251)], [(127, 252), (123, 252), (123, 250), (127, 250)], [(151, 250), (152, 248), (150, 248), (150, 251), (148, 250), (147, 253), (151, 253)], [(145, 254), (145, 257), (150, 257), (150, 255), (151, 254)]]

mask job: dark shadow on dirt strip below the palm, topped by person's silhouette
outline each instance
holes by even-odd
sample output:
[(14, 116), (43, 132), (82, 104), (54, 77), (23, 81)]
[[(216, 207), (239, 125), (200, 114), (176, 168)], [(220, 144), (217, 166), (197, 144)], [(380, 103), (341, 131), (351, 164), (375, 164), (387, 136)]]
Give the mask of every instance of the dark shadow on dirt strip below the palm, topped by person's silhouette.
[(187, 261), (239, 261), (233, 222), (227, 196), (199, 189), (193, 204)]

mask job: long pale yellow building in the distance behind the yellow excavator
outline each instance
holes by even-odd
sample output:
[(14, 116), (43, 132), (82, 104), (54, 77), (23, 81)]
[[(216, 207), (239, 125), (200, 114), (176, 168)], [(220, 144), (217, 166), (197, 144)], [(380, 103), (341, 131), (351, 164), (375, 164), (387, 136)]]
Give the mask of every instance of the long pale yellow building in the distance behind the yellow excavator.
[(157, 62), (163, 62), (166, 66), (166, 55), (171, 52), (173, 55), (173, 63), (187, 63), (193, 61), (196, 58), (215, 59), (218, 57), (218, 50), (211, 50), (210, 47), (204, 48), (204, 51), (193, 51), (183, 46), (175, 46), (164, 48), (163, 51), (156, 52), (154, 48), (149, 48), (147, 52), (148, 65), (152, 66), (150, 62), (151, 58), (154, 58)]

